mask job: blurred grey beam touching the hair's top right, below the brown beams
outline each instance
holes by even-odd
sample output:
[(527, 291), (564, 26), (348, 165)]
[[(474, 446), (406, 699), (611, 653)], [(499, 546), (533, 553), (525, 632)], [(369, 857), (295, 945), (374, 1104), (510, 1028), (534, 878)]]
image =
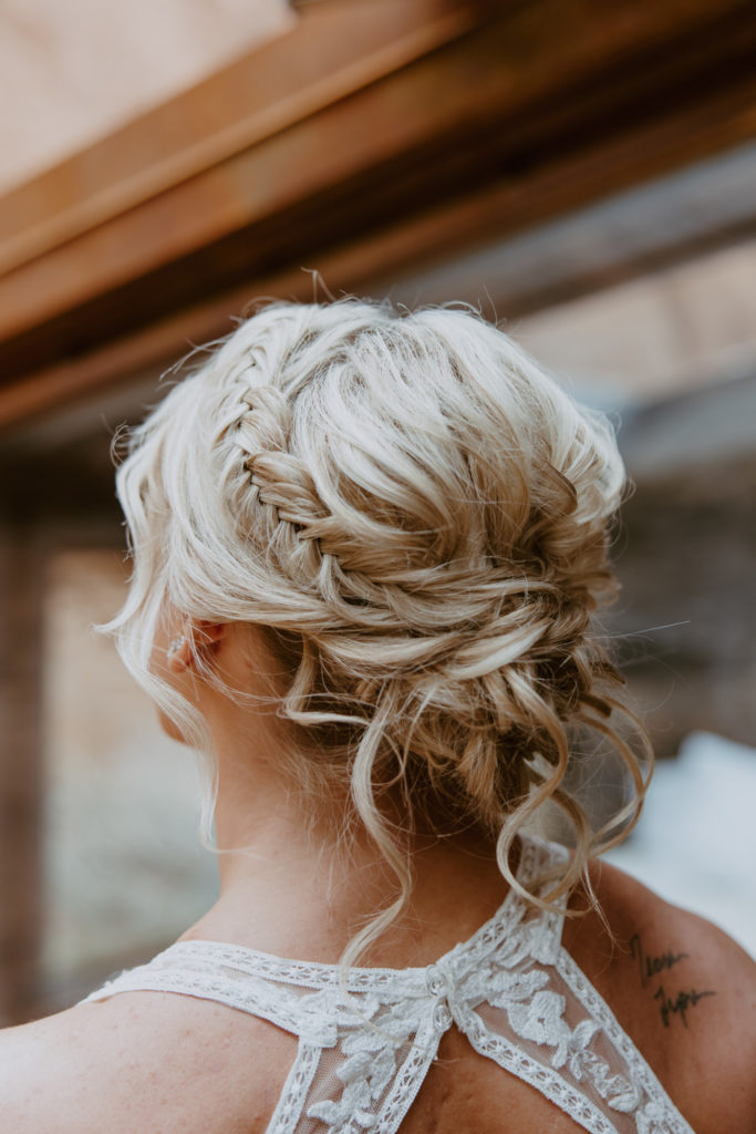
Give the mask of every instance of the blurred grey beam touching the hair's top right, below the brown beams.
[[(414, 306), (453, 296), (508, 322), (756, 238), (756, 144), (625, 188), (385, 281)], [(379, 288), (383, 281), (379, 279)]]

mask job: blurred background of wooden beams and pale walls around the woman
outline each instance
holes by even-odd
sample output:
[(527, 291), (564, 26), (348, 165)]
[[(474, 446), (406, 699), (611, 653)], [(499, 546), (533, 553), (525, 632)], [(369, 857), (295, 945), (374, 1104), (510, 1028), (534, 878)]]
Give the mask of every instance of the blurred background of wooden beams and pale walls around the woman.
[(756, 951), (754, 58), (742, 0), (0, 0), (0, 1022), (213, 900), (193, 758), (90, 627), (114, 429), (260, 296), (467, 301), (613, 416), (660, 759), (614, 857)]

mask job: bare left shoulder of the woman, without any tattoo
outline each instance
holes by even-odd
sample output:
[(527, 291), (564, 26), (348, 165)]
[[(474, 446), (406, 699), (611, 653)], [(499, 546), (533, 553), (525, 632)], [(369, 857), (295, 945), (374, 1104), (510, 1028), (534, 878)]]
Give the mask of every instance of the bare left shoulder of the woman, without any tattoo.
[(254, 1134), (294, 1036), (222, 1005), (129, 992), (0, 1031), (0, 1111), (14, 1134)]

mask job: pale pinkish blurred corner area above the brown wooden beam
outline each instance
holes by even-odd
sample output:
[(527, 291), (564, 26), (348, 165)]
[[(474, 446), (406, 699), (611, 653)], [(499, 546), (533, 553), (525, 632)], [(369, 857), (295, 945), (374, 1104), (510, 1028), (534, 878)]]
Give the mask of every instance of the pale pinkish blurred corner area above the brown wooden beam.
[(288, 0), (2, 0), (0, 193), (296, 20)]

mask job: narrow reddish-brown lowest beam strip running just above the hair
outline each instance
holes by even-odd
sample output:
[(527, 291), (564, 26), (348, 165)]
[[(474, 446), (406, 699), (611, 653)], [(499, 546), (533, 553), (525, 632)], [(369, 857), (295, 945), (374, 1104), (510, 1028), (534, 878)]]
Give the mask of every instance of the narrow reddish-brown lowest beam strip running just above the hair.
[[(746, 83), (720, 98), (694, 103), (682, 113), (666, 113), (626, 129), (611, 143), (598, 138), (577, 153), (560, 155), (519, 178), (500, 178), (477, 193), (410, 214), (362, 239), (345, 242), (317, 257), (325, 288), (374, 294), (390, 291), (392, 278), (417, 263), (449, 257), (456, 248), (485, 243), (536, 226), (566, 208), (575, 209), (625, 188), (635, 180), (677, 169), (699, 152), (734, 145), (754, 132), (756, 88)], [(34, 375), (0, 387), (0, 428), (34, 416), (49, 405), (86, 396), (153, 369), (155, 378), (202, 342), (231, 329), (230, 316), (240, 314), (261, 296), (309, 299), (316, 281), (298, 265), (258, 274), (241, 288), (182, 308), (144, 330), (117, 338), (83, 356), (52, 365)], [(320, 297), (323, 291), (320, 293)], [(447, 296), (455, 298), (455, 296)], [(517, 296), (509, 296), (517, 310)], [(503, 313), (503, 312), (502, 312)]]

